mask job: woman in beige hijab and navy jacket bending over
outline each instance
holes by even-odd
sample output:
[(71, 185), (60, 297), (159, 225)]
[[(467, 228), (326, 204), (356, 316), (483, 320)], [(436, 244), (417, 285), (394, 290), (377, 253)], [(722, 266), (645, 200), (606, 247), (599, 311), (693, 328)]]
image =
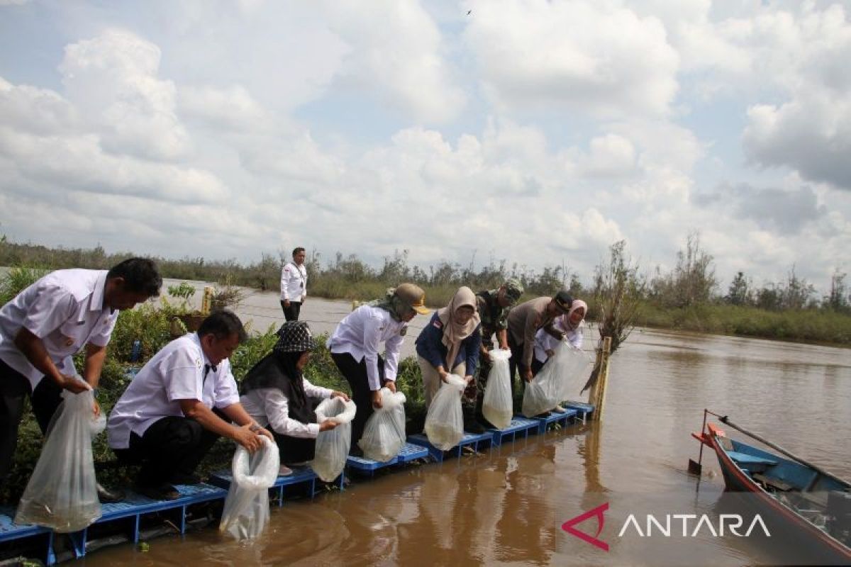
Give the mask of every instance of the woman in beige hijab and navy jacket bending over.
[(426, 390), (426, 408), (441, 383), (452, 373), (471, 383), (476, 373), (482, 331), (476, 309), (476, 294), (461, 286), (443, 309), (431, 316), (417, 337), (417, 362)]

